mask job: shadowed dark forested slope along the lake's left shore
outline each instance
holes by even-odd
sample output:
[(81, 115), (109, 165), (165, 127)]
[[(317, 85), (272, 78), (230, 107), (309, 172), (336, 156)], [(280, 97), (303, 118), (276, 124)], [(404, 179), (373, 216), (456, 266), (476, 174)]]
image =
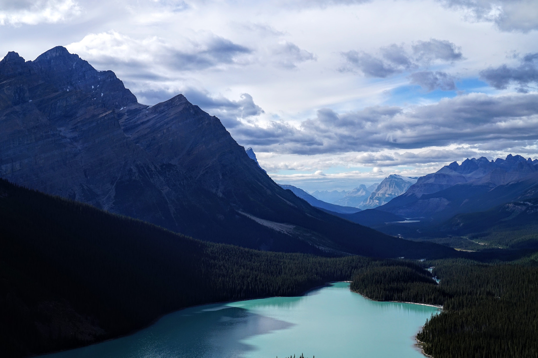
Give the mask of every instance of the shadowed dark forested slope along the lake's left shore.
[(87, 345), (192, 305), (300, 295), (373, 262), (203, 242), (0, 180), (0, 352)]

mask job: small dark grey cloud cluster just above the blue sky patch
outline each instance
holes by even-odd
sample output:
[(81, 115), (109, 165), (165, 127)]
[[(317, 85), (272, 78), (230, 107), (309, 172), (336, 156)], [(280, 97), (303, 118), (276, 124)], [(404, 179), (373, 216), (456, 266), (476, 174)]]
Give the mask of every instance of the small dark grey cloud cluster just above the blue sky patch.
[[(345, 65), (340, 71), (361, 71), (365, 76), (385, 78), (404, 71), (425, 68), (434, 61), (450, 63), (463, 59), (459, 48), (450, 41), (430, 39), (417, 41), (408, 52), (404, 46), (392, 44), (379, 49), (379, 55), (366, 52), (348, 51), (342, 56)], [(420, 84), (431, 91), (436, 88), (452, 90), (456, 86), (450, 75), (436, 71), (420, 71), (410, 76), (412, 83)]]

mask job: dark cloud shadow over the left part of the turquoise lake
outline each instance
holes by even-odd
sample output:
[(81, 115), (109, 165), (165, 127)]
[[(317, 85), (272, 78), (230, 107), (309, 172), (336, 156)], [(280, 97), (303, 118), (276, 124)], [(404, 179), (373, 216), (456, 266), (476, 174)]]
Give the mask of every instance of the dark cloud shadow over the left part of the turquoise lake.
[(133, 335), (47, 358), (231, 358), (255, 349), (252, 336), (285, 330), (292, 323), (242, 307), (207, 305), (177, 311)]

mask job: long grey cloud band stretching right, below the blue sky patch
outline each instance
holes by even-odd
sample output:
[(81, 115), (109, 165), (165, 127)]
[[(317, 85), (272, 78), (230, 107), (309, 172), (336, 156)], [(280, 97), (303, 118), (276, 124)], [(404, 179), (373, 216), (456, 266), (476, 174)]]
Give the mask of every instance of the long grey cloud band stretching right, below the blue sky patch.
[(538, 95), (492, 97), (470, 94), (410, 110), (376, 106), (338, 114), (317, 111), (299, 127), (273, 122), (268, 127), (240, 125), (231, 133), (241, 144), (269, 152), (344, 153), (413, 149), (451, 144), (476, 145), (538, 140)]

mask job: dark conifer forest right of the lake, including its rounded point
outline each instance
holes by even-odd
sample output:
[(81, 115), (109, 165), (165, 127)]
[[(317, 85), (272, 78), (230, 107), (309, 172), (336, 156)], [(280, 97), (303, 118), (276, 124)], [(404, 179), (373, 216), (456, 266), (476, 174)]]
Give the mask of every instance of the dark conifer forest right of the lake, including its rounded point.
[(434, 358), (530, 358), (538, 356), (537, 259), (426, 262), (435, 267), (439, 285), (408, 264), (369, 267), (351, 287), (372, 299), (442, 304), (417, 335)]

